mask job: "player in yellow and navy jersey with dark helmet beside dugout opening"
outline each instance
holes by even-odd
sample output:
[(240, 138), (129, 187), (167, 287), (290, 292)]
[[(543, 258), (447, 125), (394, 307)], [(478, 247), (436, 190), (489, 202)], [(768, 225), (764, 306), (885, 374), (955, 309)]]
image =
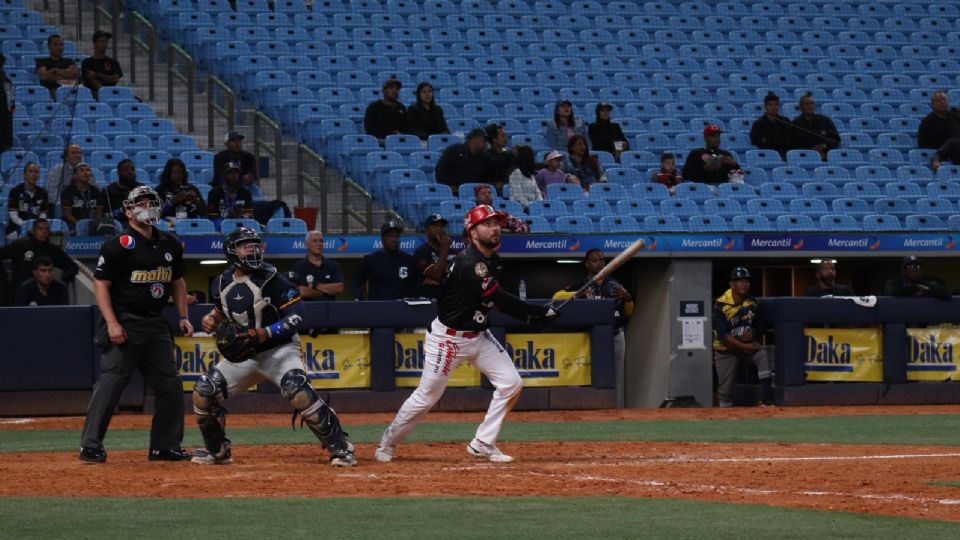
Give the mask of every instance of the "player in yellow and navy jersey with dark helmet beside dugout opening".
[(773, 403), (770, 360), (759, 338), (764, 332), (760, 303), (750, 295), (750, 271), (739, 266), (730, 273), (730, 288), (713, 305), (713, 362), (721, 407), (733, 406), (733, 384), (740, 360), (757, 367), (763, 387), (761, 405)]

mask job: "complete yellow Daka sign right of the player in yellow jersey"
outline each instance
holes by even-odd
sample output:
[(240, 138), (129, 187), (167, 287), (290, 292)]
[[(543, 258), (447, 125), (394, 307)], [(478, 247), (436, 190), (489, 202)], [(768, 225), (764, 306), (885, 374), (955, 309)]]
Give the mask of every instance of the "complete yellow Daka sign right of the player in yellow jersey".
[(805, 328), (807, 381), (881, 382), (879, 328)]

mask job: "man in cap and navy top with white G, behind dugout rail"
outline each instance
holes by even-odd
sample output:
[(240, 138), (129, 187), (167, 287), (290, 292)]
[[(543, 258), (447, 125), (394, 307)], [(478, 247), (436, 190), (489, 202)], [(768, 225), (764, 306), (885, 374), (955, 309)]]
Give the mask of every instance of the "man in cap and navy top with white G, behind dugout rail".
[(403, 226), (394, 220), (380, 227), (383, 249), (364, 255), (353, 274), (353, 294), (357, 300), (400, 300), (416, 294), (420, 281), (417, 262), (400, 250), (402, 232)]

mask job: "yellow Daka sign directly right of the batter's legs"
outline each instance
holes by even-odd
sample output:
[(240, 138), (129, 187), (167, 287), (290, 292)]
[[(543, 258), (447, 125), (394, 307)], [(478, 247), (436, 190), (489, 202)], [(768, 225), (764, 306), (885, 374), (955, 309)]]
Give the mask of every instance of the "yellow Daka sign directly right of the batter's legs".
[(507, 354), (527, 387), (589, 386), (590, 334), (507, 334)]

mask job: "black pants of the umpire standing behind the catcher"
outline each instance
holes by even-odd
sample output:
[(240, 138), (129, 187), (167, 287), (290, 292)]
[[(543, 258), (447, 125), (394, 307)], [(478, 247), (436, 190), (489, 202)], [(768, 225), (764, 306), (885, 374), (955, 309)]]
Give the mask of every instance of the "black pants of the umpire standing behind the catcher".
[[(123, 345), (111, 343), (101, 357), (100, 380), (93, 387), (81, 444), (101, 448), (120, 394), (137, 368), (156, 396), (150, 428), (151, 450), (176, 450), (183, 442), (183, 381), (173, 359), (173, 337), (162, 317), (119, 316), (127, 332)], [(109, 338), (108, 338), (109, 339)]]

